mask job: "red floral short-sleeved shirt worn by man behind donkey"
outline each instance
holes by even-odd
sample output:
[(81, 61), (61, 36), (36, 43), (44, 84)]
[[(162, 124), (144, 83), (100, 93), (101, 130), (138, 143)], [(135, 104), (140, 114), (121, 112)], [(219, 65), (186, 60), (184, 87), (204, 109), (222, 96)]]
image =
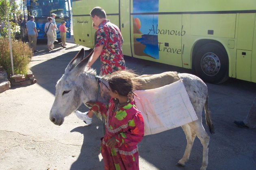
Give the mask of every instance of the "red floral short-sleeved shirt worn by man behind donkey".
[(96, 32), (96, 45), (104, 45), (100, 54), (102, 75), (111, 74), (117, 70), (125, 69), (122, 44), (124, 42), (119, 28), (105, 19), (100, 23)]

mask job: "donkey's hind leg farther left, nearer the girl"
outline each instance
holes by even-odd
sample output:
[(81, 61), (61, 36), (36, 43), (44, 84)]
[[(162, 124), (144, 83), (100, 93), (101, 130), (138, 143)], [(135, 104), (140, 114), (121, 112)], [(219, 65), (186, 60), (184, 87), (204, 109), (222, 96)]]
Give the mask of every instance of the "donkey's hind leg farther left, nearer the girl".
[(191, 127), (188, 124), (183, 125), (181, 127), (185, 132), (187, 138), (187, 147), (183, 157), (178, 161), (176, 166), (185, 166), (185, 162), (189, 160), (189, 155), (191, 153), (191, 149), (195, 140), (195, 132), (191, 129)]

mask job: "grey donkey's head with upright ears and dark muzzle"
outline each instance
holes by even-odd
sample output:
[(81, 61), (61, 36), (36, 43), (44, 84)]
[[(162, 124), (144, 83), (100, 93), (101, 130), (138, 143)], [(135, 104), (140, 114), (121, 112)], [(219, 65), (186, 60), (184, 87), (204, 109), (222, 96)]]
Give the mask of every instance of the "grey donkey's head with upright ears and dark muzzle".
[[(92, 51), (93, 52), (93, 51)], [(92, 53), (91, 52), (91, 53)], [(65, 69), (65, 73), (56, 84), (55, 100), (50, 111), (50, 120), (55, 125), (61, 125), (64, 117), (76, 110), (85, 98), (82, 73), (86, 69), (91, 53), (85, 56), (81, 49)]]

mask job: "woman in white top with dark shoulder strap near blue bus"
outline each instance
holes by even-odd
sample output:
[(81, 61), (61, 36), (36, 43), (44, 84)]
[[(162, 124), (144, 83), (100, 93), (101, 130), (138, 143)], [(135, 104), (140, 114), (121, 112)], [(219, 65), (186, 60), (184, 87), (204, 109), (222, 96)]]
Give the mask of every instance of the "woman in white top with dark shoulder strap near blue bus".
[[(52, 17), (48, 17), (48, 23), (46, 23), (46, 25), (44, 26), (44, 32), (47, 31), (47, 45), (48, 45), (48, 49), (49, 51), (53, 50), (53, 43), (55, 41), (54, 39), (54, 25), (52, 23)], [(48, 28), (49, 27), (49, 28)]]

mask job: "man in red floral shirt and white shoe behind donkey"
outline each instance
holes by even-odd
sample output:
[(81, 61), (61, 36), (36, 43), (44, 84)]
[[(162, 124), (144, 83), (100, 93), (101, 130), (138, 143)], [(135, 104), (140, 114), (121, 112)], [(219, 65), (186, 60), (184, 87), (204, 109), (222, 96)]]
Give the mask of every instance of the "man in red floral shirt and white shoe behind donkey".
[[(91, 10), (91, 19), (96, 31), (96, 43), (94, 52), (87, 64), (88, 68), (100, 56), (100, 75), (111, 74), (118, 70), (125, 70), (125, 61), (122, 51), (123, 37), (119, 28), (106, 19), (106, 12), (97, 6)], [(87, 125), (91, 124), (92, 117), (87, 116), (87, 112), (82, 113), (76, 110), (76, 116), (82, 119)]]

